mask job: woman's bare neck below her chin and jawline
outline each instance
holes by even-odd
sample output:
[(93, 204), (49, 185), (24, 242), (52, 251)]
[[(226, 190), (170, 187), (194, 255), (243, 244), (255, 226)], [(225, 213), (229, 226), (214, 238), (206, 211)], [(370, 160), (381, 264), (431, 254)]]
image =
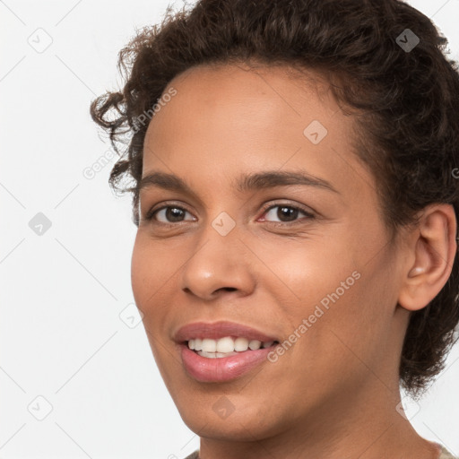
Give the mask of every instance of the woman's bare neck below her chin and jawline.
[[(396, 407), (401, 402), (396, 391), (377, 377), (367, 388), (354, 394), (330, 397), (308, 413), (307, 418), (291, 420), (275, 434), (262, 437), (250, 432), (246, 441), (201, 438), (200, 459), (282, 459), (322, 458), (380, 459), (416, 457), (437, 459), (440, 448), (420, 437)], [(248, 437), (248, 439), (247, 439)]]

